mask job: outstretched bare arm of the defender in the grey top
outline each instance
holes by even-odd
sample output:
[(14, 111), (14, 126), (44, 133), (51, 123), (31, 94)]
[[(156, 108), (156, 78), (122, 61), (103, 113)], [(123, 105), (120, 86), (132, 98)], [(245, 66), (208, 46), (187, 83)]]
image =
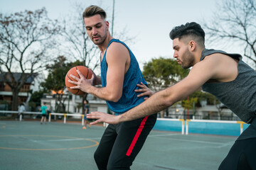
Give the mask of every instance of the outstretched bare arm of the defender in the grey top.
[(213, 77), (215, 74), (215, 72), (213, 72), (213, 67), (214, 64), (212, 65), (204, 61), (199, 62), (193, 67), (193, 69), (191, 69), (188, 77), (178, 82), (177, 84), (174, 84), (174, 86), (171, 86), (168, 89), (157, 92), (146, 101), (139, 104), (139, 106), (132, 108), (126, 113), (114, 116), (96, 112), (90, 113), (90, 117), (88, 118), (98, 119), (92, 124), (100, 122), (117, 124), (158, 113), (159, 111), (162, 111), (165, 108), (173, 105), (177, 101), (181, 101), (183, 98), (186, 98), (192, 94), (193, 91), (199, 89), (206, 81), (208, 81), (208, 79)]

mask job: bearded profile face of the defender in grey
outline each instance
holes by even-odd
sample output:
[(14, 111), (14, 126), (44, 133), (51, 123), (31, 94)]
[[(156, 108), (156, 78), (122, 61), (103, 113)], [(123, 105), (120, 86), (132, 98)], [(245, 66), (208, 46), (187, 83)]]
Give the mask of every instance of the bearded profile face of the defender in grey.
[(195, 57), (188, 49), (188, 43), (175, 38), (173, 41), (174, 58), (178, 64), (181, 64), (183, 69), (188, 69), (193, 66)]

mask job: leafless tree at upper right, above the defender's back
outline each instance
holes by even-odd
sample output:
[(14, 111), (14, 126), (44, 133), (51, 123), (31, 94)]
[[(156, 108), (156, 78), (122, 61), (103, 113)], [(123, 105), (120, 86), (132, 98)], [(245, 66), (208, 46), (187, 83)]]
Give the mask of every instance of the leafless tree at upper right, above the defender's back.
[(204, 22), (206, 35), (213, 42), (240, 45), (244, 56), (256, 69), (256, 1), (226, 0), (219, 4), (212, 20)]

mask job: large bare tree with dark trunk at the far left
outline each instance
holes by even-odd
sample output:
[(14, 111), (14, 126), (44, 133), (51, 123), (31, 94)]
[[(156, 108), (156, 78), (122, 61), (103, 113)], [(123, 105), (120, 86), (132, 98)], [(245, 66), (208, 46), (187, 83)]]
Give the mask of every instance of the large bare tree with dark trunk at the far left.
[[(46, 8), (11, 13), (9, 16), (0, 13), (0, 73), (4, 74), (6, 84), (11, 87), (13, 111), (18, 108), (18, 92), (26, 79), (42, 72), (50, 61), (53, 35), (58, 30), (57, 21), (48, 18)], [(21, 72), (18, 79), (14, 77), (15, 72)]]

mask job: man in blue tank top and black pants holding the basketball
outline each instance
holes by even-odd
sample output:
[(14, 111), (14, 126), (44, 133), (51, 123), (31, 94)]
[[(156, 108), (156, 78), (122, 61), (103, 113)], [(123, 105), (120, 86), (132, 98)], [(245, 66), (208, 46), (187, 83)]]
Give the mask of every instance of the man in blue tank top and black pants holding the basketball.
[[(70, 82), (77, 85), (74, 89), (104, 99), (115, 115), (121, 115), (144, 101), (135, 90), (139, 89), (137, 84), (146, 84), (146, 81), (129, 47), (110, 35), (105, 11), (89, 6), (82, 17), (87, 35), (101, 51), (101, 77), (93, 74), (92, 79), (87, 80), (78, 71), (80, 78), (72, 76), (77, 82)], [(95, 86), (98, 84), (102, 84), (102, 88)], [(98, 169), (130, 169), (155, 123), (156, 114), (153, 114), (108, 125), (94, 155)]]

